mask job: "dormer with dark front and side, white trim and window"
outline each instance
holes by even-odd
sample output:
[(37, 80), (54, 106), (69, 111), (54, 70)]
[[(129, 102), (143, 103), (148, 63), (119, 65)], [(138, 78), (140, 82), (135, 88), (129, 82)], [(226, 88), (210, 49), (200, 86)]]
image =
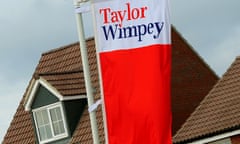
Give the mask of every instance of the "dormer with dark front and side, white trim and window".
[(67, 143), (86, 103), (85, 95), (62, 95), (44, 77), (33, 79), (26, 94), (24, 108), (32, 114), (38, 143)]

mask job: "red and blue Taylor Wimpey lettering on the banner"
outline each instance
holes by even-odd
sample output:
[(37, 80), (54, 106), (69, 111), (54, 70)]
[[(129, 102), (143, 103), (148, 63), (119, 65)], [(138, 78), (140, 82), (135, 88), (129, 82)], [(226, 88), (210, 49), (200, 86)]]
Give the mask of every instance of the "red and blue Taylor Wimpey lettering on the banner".
[[(103, 32), (106, 40), (136, 37), (138, 41), (141, 42), (144, 36), (152, 36), (153, 39), (158, 39), (163, 30), (164, 22), (144, 21), (144, 19), (147, 19), (148, 11), (149, 8), (147, 6), (139, 8), (131, 7), (130, 3), (126, 3), (125, 9), (123, 10), (114, 11), (109, 7), (101, 8), (99, 9), (99, 14), (103, 18), (101, 32)], [(137, 21), (141, 19), (143, 20), (141, 22), (145, 23), (139, 23)], [(131, 25), (124, 26), (124, 21), (136, 22), (131, 22)]]

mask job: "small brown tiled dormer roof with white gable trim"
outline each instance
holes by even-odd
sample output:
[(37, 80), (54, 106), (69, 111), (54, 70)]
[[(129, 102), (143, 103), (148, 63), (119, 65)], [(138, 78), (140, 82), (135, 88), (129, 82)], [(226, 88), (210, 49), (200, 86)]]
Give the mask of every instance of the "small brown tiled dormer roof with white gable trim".
[(34, 80), (30, 91), (26, 94), (24, 107), (26, 111), (31, 110), (32, 102), (39, 86), (43, 86), (59, 101), (76, 100), (86, 98), (82, 72), (70, 74), (44, 74), (37, 80)]

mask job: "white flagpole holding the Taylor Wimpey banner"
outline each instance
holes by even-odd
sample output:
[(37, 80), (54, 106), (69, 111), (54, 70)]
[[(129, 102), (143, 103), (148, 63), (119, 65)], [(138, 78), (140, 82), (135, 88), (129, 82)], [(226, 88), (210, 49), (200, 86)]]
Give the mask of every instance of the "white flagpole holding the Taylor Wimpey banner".
[[(86, 0), (83, 0), (83, 2), (86, 2)], [(79, 0), (78, 1), (74, 0), (74, 6), (76, 9), (80, 7)], [(80, 51), (81, 51), (81, 57), (82, 57), (85, 87), (87, 92), (87, 100), (88, 100), (88, 106), (90, 107), (91, 105), (94, 104), (94, 97), (93, 97), (93, 89), (91, 84), (91, 76), (90, 76), (90, 69), (89, 69), (89, 62), (88, 62), (88, 53), (86, 48), (86, 39), (85, 39), (84, 28), (83, 28), (82, 13), (76, 13), (76, 21), (77, 21), (77, 31), (78, 31)], [(89, 112), (89, 117), (90, 117), (91, 129), (92, 129), (93, 143), (99, 144), (96, 111)]]

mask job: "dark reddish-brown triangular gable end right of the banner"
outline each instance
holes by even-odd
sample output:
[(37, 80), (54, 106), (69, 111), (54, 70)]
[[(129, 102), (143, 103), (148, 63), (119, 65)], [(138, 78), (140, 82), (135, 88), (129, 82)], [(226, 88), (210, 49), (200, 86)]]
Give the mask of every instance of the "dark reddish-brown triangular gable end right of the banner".
[(171, 78), (174, 135), (218, 80), (216, 74), (174, 29)]

